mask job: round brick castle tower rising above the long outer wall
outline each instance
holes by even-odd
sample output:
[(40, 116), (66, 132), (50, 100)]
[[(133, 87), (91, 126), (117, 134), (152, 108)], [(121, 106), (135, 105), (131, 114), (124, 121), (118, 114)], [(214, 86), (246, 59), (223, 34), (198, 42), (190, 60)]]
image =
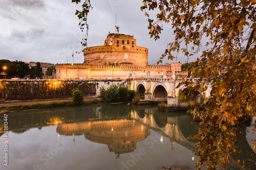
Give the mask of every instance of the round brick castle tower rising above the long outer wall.
[(102, 46), (88, 47), (84, 64), (147, 66), (148, 50), (136, 45), (130, 35), (110, 33)]

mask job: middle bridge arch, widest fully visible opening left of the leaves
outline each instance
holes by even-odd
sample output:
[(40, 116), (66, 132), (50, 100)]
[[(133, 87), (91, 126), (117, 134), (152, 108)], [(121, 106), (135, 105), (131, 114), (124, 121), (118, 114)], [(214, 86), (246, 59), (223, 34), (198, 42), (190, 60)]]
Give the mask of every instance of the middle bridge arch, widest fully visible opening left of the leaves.
[(152, 99), (154, 101), (167, 101), (167, 91), (165, 85), (156, 84), (153, 88)]

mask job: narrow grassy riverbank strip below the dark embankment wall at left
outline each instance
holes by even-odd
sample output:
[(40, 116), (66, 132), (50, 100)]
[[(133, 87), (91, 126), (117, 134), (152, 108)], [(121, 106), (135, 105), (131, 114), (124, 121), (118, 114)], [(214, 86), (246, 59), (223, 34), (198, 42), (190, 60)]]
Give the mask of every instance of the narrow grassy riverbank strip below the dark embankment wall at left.
[[(82, 106), (100, 105), (100, 100), (97, 99), (84, 99)], [(5, 102), (0, 104), (0, 114), (42, 108), (56, 108), (56, 107), (72, 107), (74, 106), (72, 100), (40, 100), (40, 101), (18, 101), (18, 102)]]

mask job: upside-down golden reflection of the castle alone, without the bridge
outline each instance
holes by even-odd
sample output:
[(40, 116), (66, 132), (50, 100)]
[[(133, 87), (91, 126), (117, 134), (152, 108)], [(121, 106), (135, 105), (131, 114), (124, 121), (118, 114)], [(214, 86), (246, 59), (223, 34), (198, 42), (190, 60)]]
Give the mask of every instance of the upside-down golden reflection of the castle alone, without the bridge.
[(135, 120), (113, 120), (61, 124), (57, 126), (60, 135), (84, 135), (87, 139), (107, 144), (115, 154), (132, 152), (136, 143), (144, 140), (150, 131)]

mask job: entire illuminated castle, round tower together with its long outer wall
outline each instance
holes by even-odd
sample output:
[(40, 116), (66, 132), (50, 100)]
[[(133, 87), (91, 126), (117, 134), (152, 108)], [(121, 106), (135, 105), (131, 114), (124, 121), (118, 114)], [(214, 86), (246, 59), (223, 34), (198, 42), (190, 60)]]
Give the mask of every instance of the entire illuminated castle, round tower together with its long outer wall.
[(82, 64), (57, 64), (57, 79), (127, 79), (187, 77), (181, 63), (148, 65), (148, 49), (137, 46), (134, 36), (109, 33), (104, 45), (84, 50)]

